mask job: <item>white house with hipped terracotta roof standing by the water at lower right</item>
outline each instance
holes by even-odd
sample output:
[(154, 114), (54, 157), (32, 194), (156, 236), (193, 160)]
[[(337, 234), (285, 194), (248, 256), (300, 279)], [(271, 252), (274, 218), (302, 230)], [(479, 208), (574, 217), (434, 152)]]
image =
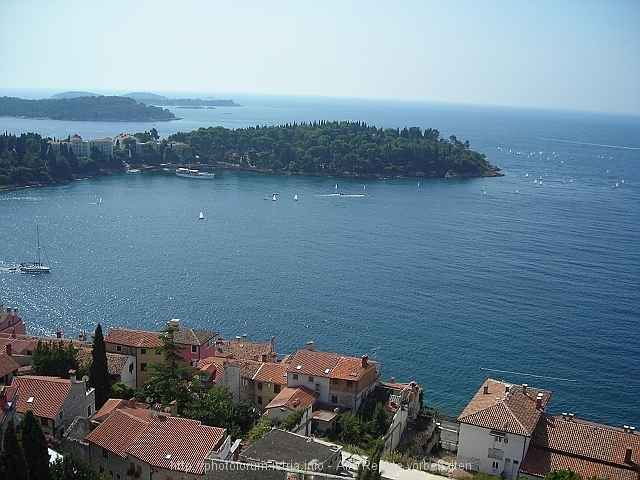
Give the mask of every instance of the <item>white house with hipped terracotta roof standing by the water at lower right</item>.
[(465, 469), (515, 477), (551, 392), (487, 379), (458, 417)]

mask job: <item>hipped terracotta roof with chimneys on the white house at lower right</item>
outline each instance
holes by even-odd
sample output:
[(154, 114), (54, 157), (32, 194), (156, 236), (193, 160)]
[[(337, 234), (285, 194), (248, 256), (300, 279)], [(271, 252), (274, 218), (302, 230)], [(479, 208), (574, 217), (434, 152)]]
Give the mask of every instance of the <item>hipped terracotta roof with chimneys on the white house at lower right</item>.
[(528, 386), (526, 393), (523, 390), (521, 385), (487, 379), (460, 414), (458, 421), (530, 437), (541, 415), (536, 409), (538, 393), (542, 394), (541, 410), (544, 410), (551, 392)]

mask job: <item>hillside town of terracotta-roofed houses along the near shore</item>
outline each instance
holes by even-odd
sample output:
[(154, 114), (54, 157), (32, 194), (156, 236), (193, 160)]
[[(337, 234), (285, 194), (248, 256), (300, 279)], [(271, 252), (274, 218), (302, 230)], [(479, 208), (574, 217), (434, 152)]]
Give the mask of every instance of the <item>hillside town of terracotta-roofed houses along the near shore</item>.
[[(282, 355), (274, 337), (227, 338), (175, 318), (162, 332), (113, 327), (103, 342), (97, 336), (28, 335), (18, 308), (0, 302), (3, 438), (31, 411), (52, 439), (51, 455), (73, 454), (114, 479), (367, 478), (367, 468), (393, 479), (483, 472), (535, 480), (568, 469), (584, 479), (639, 478), (634, 426), (548, 413), (552, 392), (527, 384), (488, 378), (463, 412), (449, 418), (426, 406), (416, 381), (385, 381), (378, 360), (323, 351), (312, 340)], [(101, 401), (100, 387), (79, 371), (70, 369), (64, 378), (35, 374), (43, 345), (73, 352), (80, 369), (95, 358), (94, 347), (104, 348), (111, 393), (118, 385), (118, 391), (148, 396)], [(175, 364), (167, 345), (179, 353)], [(148, 389), (163, 362), (172, 366), (167, 374), (188, 372), (188, 386), (197, 384), (200, 395), (223, 389), (234, 402), (250, 405), (248, 434), (190, 418), (178, 392), (164, 401)], [(348, 421), (370, 417), (367, 410), (385, 427), (373, 454), (353, 448), (363, 433), (344, 435)], [(264, 426), (260, 432), (258, 425)]]

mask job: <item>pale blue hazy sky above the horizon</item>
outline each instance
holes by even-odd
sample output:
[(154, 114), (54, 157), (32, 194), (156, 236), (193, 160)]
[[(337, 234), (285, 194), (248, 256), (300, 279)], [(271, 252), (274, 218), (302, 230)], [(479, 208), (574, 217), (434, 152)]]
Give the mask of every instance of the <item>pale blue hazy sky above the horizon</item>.
[(245, 93), (640, 115), (638, 0), (0, 0), (0, 11), (0, 95)]

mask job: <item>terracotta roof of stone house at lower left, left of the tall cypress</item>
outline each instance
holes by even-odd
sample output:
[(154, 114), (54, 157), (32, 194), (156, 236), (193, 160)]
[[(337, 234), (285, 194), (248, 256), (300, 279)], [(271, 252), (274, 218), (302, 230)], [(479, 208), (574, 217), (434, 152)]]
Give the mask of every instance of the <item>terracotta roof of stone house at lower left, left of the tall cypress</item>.
[[(80, 380), (76, 384), (85, 388)], [(11, 385), (20, 387), (16, 405), (18, 413), (31, 410), (37, 417), (51, 419), (56, 416), (73, 386), (68, 379), (39, 376), (13, 377)], [(31, 397), (33, 401), (27, 403)]]

